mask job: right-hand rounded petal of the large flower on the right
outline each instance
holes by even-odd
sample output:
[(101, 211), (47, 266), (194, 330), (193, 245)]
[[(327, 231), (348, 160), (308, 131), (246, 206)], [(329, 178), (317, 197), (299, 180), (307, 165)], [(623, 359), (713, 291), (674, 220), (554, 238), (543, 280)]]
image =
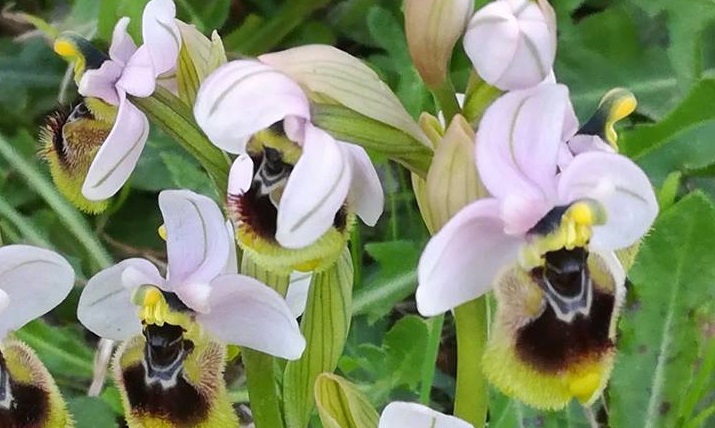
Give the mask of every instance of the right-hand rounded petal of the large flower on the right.
[(588, 152), (574, 157), (559, 177), (559, 199), (600, 202), (606, 224), (596, 226), (591, 243), (617, 250), (636, 243), (658, 215), (658, 202), (645, 173), (625, 156)]

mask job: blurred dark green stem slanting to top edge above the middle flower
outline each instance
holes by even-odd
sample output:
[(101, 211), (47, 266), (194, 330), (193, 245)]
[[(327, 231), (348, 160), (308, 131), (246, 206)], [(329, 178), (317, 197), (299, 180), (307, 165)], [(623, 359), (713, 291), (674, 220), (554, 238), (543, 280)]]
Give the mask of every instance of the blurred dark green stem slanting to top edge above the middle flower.
[(299, 27), (316, 9), (328, 3), (330, 3), (330, 0), (292, 0), (286, 2), (270, 20), (263, 22), (257, 31), (244, 33), (248, 37), (235, 41), (227, 48), (249, 56), (268, 52)]

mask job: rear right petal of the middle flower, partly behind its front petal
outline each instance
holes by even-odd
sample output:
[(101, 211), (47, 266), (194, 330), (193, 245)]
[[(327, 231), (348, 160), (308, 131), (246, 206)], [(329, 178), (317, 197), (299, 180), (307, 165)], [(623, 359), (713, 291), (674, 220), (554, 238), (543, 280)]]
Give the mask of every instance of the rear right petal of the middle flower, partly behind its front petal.
[(385, 196), (375, 166), (362, 147), (339, 142), (350, 160), (353, 171), (350, 199), (357, 215), (368, 226), (374, 226), (382, 215)]

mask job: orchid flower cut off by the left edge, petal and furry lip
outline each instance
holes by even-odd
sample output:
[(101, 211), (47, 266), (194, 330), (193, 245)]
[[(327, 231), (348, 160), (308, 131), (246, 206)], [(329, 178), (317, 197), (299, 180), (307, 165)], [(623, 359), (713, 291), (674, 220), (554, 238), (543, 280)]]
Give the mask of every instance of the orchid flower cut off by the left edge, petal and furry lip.
[(42, 362), (27, 345), (7, 337), (62, 302), (73, 284), (72, 267), (52, 251), (0, 248), (0, 426), (74, 425)]

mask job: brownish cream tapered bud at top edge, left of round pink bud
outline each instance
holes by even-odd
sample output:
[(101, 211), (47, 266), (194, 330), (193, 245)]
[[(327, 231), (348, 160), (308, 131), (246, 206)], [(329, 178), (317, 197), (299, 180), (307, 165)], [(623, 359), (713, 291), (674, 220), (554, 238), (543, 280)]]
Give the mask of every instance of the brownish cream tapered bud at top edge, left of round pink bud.
[(472, 14), (471, 0), (406, 0), (405, 32), (410, 56), (422, 80), (440, 86), (452, 50)]

